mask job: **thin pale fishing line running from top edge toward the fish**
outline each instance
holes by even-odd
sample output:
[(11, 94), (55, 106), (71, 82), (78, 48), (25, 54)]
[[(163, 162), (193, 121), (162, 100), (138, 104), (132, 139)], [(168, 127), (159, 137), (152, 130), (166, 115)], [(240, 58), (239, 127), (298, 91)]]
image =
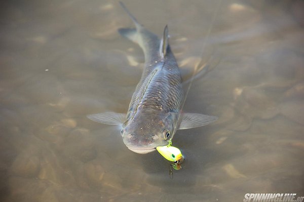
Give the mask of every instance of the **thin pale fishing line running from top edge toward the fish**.
[[(205, 40), (204, 40), (204, 42), (203, 42), (203, 45), (202, 45), (202, 51), (203, 51), (203, 52), (204, 52), (204, 48), (205, 48), (205, 46), (206, 46), (206, 42), (207, 42), (207, 40), (208, 40), (208, 38), (209, 38), (209, 36), (210, 36), (211, 30), (212, 30), (212, 26), (213, 26), (214, 21), (215, 21), (215, 19), (216, 19), (217, 13), (218, 13), (218, 11), (219, 11), (220, 4), (221, 4), (221, 0), (218, 1), (218, 4), (216, 5), (216, 8), (215, 8), (215, 10), (214, 10), (214, 13), (213, 13), (213, 16), (212, 16), (212, 20), (211, 20), (210, 26), (209, 26), (208, 31), (207, 31), (207, 36), (206, 36), (206, 38), (205, 38)], [(202, 54), (202, 57), (201, 57), (201, 58), (203, 58), (203, 54)], [(201, 61), (201, 62), (202, 62), (202, 61)], [(183, 107), (184, 107), (184, 105), (185, 105), (185, 101), (186, 101), (186, 98), (187, 98), (187, 96), (188, 96), (189, 90), (190, 90), (190, 88), (191, 88), (191, 86), (192, 86), (192, 83), (193, 83), (193, 81), (194, 81), (195, 75), (199, 72), (199, 70), (201, 70), (201, 68), (204, 68), (204, 67), (205, 67), (204, 65), (201, 66), (201, 62), (200, 62), (198, 65), (196, 65), (196, 66), (194, 67), (194, 71), (193, 71), (193, 74), (192, 74), (192, 76), (191, 76), (191, 80), (190, 80), (190, 82), (189, 82), (188, 88), (187, 88), (187, 90), (186, 90), (185, 98), (184, 98), (184, 100), (183, 100), (183, 104), (182, 104), (182, 106), (181, 106), (180, 111), (182, 111), (182, 109), (183, 109)], [(198, 68), (198, 67), (201, 67), (201, 68)], [(182, 114), (182, 113), (180, 113), (180, 114)], [(175, 131), (176, 131), (176, 129), (175, 129)], [(173, 133), (173, 134), (174, 134), (174, 133)]]

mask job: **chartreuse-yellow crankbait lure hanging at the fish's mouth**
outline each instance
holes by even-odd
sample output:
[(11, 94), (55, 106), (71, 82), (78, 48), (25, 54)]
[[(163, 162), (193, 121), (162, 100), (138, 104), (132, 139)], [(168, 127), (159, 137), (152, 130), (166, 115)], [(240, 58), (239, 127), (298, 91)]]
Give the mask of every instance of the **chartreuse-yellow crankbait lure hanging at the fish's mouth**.
[(168, 161), (173, 161), (175, 163), (182, 162), (183, 156), (181, 154), (181, 151), (179, 150), (179, 148), (171, 145), (172, 145), (172, 140), (170, 139), (167, 145), (158, 146), (156, 147), (156, 149)]

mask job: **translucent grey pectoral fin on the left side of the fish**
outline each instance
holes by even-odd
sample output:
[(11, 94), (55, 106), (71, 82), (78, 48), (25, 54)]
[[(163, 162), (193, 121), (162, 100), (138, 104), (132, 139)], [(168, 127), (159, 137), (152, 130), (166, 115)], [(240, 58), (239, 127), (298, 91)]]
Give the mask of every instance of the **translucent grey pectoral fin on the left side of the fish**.
[(103, 123), (107, 125), (120, 125), (126, 121), (126, 114), (115, 113), (115, 112), (104, 112), (99, 114), (87, 115), (92, 121)]

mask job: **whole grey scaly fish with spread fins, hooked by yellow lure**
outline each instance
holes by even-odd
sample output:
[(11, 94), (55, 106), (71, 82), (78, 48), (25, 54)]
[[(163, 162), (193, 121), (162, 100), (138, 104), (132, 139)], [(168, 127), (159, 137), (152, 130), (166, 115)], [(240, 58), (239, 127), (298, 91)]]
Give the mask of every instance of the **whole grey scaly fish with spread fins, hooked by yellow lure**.
[(177, 130), (201, 127), (217, 117), (182, 113), (182, 78), (169, 45), (168, 26), (159, 38), (139, 24), (122, 2), (120, 5), (135, 28), (120, 28), (118, 32), (141, 47), (145, 59), (142, 76), (126, 114), (104, 112), (87, 117), (102, 124), (118, 125), (124, 144), (135, 153), (147, 154), (167, 145)]

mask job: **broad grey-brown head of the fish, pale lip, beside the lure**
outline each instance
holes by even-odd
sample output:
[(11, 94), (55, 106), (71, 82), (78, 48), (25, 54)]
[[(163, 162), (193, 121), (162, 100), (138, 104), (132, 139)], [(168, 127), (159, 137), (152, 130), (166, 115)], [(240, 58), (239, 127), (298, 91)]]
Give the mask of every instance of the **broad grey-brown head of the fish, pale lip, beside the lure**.
[(168, 144), (173, 137), (177, 113), (141, 110), (127, 120), (122, 129), (125, 145), (138, 154), (155, 151), (156, 147)]

